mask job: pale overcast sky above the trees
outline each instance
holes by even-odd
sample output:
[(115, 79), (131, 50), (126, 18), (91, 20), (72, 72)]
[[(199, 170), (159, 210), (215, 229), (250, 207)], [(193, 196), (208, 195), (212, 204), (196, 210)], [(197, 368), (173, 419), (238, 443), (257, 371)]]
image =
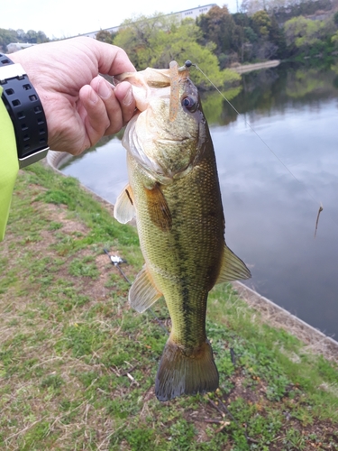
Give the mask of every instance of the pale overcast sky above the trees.
[(213, 3), (228, 5), (231, 13), (236, 12), (236, 0), (7, 0), (1, 5), (0, 28), (42, 31), (50, 39), (62, 38), (116, 26), (134, 14), (169, 14)]

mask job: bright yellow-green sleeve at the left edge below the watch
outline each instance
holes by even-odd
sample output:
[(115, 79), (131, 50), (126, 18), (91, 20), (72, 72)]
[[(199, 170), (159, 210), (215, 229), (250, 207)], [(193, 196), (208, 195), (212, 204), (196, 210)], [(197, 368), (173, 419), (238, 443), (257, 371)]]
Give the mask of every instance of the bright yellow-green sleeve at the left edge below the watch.
[[(0, 97), (2, 93), (3, 87), (0, 87)], [(14, 127), (4, 102), (0, 100), (0, 241), (5, 236), (5, 226), (18, 170)]]

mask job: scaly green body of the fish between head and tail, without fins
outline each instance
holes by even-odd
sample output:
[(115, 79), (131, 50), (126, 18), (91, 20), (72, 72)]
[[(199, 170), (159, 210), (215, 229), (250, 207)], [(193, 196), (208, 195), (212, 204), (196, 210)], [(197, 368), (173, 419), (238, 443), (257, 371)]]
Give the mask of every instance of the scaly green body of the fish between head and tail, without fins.
[(206, 150), (205, 157), (185, 178), (161, 187), (171, 213), (171, 233), (160, 230), (151, 220), (143, 195), (144, 174), (134, 160), (129, 160), (144, 259), (150, 262), (155, 284), (166, 299), (175, 342), (193, 347), (206, 340), (206, 298), (223, 255), (219, 243), (223, 243), (224, 222), (219, 221), (223, 211), (214, 152)]

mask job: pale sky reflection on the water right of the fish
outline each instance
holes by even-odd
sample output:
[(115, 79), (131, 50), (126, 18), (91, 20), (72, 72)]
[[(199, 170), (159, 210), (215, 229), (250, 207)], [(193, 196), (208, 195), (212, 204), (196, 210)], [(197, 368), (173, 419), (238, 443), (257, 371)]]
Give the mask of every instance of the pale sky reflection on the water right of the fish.
[[(337, 333), (338, 159), (334, 123), (338, 112), (331, 106), (335, 117), (329, 115), (328, 120), (317, 112), (313, 118), (325, 133), (322, 148), (316, 147), (315, 139), (319, 140), (306, 111), (297, 112), (296, 118), (288, 111), (283, 121), (279, 115), (276, 121), (269, 117), (267, 133), (264, 118), (256, 120), (255, 128), (262, 125), (264, 140), (301, 183), (243, 127), (232, 127), (226, 134), (226, 141), (236, 143), (235, 152), (224, 145), (222, 129), (213, 130), (213, 140), (227, 242), (251, 265), (254, 277), (249, 285), (310, 324)], [(295, 123), (297, 132), (290, 133)], [(308, 128), (314, 131), (310, 133)], [(324, 212), (314, 239), (319, 201)]]

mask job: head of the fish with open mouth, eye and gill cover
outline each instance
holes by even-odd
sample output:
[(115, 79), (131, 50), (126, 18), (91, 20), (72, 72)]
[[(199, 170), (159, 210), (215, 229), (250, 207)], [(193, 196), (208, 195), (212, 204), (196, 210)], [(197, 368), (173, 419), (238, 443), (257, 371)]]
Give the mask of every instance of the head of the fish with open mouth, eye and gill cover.
[(183, 177), (208, 136), (198, 90), (188, 70), (146, 69), (130, 73), (138, 113), (128, 124), (123, 146), (161, 183)]

